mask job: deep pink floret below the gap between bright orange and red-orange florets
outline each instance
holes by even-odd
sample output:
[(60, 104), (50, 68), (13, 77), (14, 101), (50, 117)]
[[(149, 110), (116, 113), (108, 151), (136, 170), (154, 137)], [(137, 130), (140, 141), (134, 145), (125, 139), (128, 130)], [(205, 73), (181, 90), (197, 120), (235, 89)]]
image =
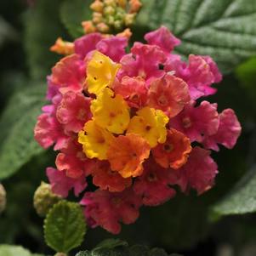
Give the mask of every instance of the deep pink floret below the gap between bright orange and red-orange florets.
[(175, 196), (174, 189), (168, 185), (168, 172), (152, 158), (144, 163), (144, 173), (134, 182), (134, 191), (142, 196), (144, 205), (156, 206)]

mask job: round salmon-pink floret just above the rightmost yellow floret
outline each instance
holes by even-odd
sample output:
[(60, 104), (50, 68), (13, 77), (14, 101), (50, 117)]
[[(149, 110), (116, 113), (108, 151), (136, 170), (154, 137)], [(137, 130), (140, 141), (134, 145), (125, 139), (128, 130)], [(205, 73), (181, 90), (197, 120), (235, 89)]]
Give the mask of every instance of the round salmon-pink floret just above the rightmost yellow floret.
[(151, 81), (148, 105), (175, 117), (191, 100), (187, 84), (179, 77), (166, 74)]

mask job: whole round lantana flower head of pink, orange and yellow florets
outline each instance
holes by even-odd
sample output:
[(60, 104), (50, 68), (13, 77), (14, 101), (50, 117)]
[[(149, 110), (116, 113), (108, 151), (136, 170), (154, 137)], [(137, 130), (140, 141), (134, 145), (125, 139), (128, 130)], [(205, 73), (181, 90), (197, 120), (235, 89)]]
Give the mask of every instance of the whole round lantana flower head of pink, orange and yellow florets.
[(47, 168), (52, 191), (82, 196), (88, 224), (114, 234), (177, 188), (208, 191), (218, 174), (211, 151), (231, 149), (241, 133), (234, 111), (205, 100), (222, 79), (209, 56), (181, 60), (164, 26), (145, 41), (127, 53), (127, 37), (78, 38), (48, 77), (50, 104), (35, 128), (59, 152)]

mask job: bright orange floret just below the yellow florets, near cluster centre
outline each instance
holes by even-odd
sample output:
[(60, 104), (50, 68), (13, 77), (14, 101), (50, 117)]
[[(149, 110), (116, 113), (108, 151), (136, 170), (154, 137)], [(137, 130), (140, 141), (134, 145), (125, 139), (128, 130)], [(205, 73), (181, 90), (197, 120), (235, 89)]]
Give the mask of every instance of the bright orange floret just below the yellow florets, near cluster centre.
[(150, 156), (151, 146), (136, 134), (120, 135), (111, 141), (107, 151), (111, 169), (123, 178), (137, 177), (143, 173), (142, 163)]

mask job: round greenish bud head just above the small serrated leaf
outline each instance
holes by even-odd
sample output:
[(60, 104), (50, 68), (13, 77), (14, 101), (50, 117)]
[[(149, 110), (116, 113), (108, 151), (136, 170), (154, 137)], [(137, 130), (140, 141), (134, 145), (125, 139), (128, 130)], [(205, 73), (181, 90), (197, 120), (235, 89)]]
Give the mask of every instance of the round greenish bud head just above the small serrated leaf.
[(52, 192), (51, 185), (42, 182), (34, 194), (34, 208), (39, 216), (44, 217), (47, 215), (49, 209), (55, 203), (60, 202), (61, 199), (61, 196)]

